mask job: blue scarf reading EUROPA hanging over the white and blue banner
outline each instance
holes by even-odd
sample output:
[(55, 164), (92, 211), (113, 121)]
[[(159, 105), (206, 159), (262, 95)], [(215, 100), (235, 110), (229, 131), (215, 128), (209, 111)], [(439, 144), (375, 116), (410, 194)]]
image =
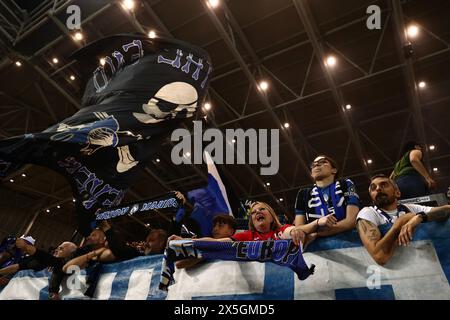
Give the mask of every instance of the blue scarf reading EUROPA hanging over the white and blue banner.
[(187, 258), (273, 262), (292, 269), (299, 280), (305, 280), (313, 274), (315, 267), (306, 265), (302, 249), (291, 240), (234, 242), (173, 240), (164, 252), (160, 289), (167, 290), (167, 287), (173, 284), (174, 262)]

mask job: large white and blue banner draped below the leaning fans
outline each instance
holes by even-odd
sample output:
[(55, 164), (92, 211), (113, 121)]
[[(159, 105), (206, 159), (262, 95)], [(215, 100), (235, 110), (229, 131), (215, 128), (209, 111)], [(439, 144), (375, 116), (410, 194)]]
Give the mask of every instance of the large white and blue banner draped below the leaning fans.
[[(450, 221), (422, 224), (408, 247), (383, 267), (369, 256), (356, 230), (312, 243), (303, 257), (316, 269), (300, 281), (274, 263), (215, 260), (176, 270), (168, 292), (158, 289), (162, 255), (106, 265), (96, 299), (307, 300), (450, 299)], [(48, 272), (19, 272), (0, 299), (46, 299)], [(83, 277), (82, 277), (83, 278)], [(81, 281), (83, 283), (83, 281)], [(66, 289), (64, 289), (66, 290)], [(82, 290), (65, 299), (86, 299)]]

